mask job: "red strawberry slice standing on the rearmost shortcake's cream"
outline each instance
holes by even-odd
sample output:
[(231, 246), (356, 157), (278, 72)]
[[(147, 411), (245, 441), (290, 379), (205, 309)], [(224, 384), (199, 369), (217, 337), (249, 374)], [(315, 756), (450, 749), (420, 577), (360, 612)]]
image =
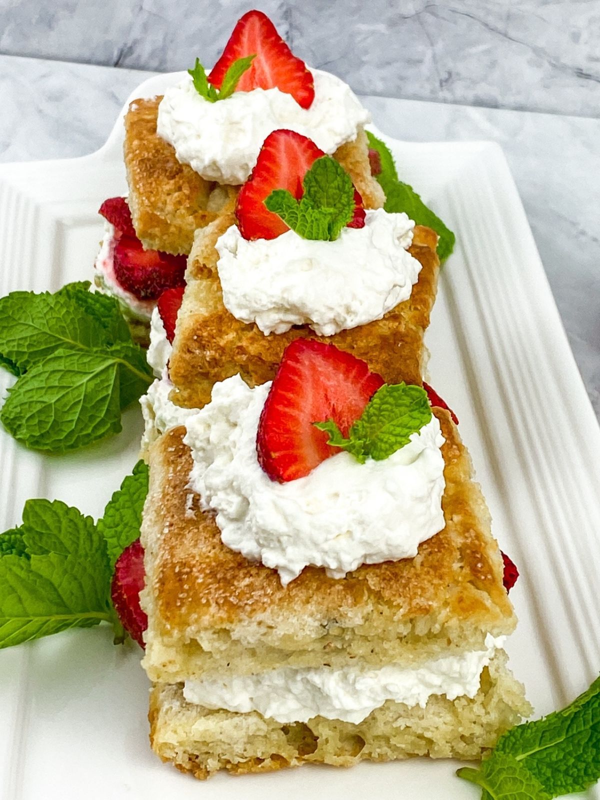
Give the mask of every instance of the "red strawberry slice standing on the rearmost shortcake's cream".
[(255, 58), (240, 78), (236, 91), (278, 89), (291, 94), (302, 108), (309, 108), (314, 100), (313, 75), (302, 59), (294, 56), (262, 11), (248, 11), (238, 19), (221, 58), (208, 76), (209, 81), (220, 89), (233, 62), (248, 55)]

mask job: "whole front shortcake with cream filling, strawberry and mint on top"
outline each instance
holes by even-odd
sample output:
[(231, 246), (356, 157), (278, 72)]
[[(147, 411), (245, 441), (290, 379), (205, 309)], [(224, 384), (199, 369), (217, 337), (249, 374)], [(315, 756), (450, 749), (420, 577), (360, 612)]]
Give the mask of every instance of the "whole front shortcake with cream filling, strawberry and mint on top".
[(331, 344), (154, 442), (142, 545), (150, 740), (197, 778), (480, 758), (529, 713), (450, 411)]

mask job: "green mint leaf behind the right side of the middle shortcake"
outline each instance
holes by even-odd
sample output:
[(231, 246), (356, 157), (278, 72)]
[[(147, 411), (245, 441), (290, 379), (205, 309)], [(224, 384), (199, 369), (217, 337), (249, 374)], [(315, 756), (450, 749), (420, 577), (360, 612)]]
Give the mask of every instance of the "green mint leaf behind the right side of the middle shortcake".
[(376, 136), (366, 131), (369, 139), (369, 146), (372, 150), (377, 150), (382, 162), (382, 171), (374, 178), (379, 182), (382, 190), (386, 193), (386, 204), (383, 206), (390, 213), (404, 211), (410, 219), (414, 219), (417, 225), (425, 225), (438, 234), (438, 256), (440, 261), (446, 258), (454, 250), (456, 237), (452, 231), (446, 227), (442, 220), (425, 205), (420, 196), (408, 183), (398, 180), (394, 157), (389, 148)]

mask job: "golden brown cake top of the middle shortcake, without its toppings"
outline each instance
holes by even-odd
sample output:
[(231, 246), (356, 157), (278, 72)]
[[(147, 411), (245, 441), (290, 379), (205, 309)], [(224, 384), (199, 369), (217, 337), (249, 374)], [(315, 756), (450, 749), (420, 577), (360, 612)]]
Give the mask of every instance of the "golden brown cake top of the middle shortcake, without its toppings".
[(420, 383), (423, 335), (429, 325), (438, 283), (438, 236), (416, 226), (410, 254), (422, 265), (410, 298), (382, 319), (335, 336), (317, 336), (309, 326), (294, 326), (284, 334), (266, 336), (254, 323), (236, 319), (223, 305), (215, 242), (234, 222), (226, 214), (196, 234), (187, 270), (186, 294), (179, 311), (170, 378), (177, 389), (175, 402), (203, 406), (217, 381), (241, 374), (249, 386), (274, 378), (283, 351), (298, 337), (331, 342), (357, 358), (386, 382)]

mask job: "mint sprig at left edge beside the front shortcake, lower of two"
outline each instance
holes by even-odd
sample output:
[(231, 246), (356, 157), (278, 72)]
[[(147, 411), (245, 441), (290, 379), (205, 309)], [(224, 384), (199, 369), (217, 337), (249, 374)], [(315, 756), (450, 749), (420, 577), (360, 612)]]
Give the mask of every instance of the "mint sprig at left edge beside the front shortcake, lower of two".
[(97, 524), (59, 500), (26, 502), (22, 525), (0, 535), (0, 649), (100, 622), (123, 640), (110, 582), (118, 555), (139, 536), (133, 523), (147, 488), (138, 462)]

